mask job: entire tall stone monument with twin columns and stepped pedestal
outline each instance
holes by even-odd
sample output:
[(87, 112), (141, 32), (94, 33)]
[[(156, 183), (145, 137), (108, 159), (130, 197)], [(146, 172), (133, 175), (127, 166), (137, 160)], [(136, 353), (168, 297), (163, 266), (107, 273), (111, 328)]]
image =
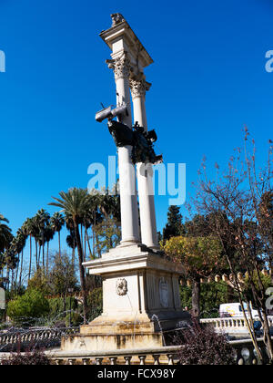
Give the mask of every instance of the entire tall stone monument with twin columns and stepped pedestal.
[[(154, 162), (160, 160), (160, 156), (154, 156), (149, 143), (156, 139), (155, 132), (147, 131), (145, 106), (151, 84), (146, 81), (144, 68), (153, 60), (125, 18), (120, 14), (111, 17), (112, 26), (100, 36), (112, 50), (111, 59), (106, 63), (114, 70), (117, 106), (112, 111), (110, 108), (100, 111), (96, 119), (108, 119), (108, 128), (117, 146), (122, 241), (100, 259), (84, 264), (89, 274), (102, 276), (103, 313), (81, 326), (80, 334), (63, 338), (64, 350), (162, 347), (166, 342), (164, 332), (189, 321), (187, 312), (180, 306), (180, 266), (167, 261), (159, 251), (153, 168), (152, 163), (145, 163), (147, 158), (153, 158)], [(147, 147), (146, 156), (142, 156), (137, 140), (131, 138), (132, 132), (143, 136), (139, 136), (139, 141), (143, 142), (143, 148)], [(139, 158), (144, 162), (138, 162)]]

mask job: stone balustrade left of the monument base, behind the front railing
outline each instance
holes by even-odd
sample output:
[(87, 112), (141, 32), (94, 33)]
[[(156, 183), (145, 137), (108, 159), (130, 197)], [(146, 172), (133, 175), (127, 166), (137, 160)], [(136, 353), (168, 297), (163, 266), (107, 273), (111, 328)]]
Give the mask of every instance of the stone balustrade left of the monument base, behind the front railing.
[(16, 351), (31, 345), (43, 347), (58, 347), (61, 337), (76, 334), (79, 327), (27, 329), (0, 334), (0, 351)]

